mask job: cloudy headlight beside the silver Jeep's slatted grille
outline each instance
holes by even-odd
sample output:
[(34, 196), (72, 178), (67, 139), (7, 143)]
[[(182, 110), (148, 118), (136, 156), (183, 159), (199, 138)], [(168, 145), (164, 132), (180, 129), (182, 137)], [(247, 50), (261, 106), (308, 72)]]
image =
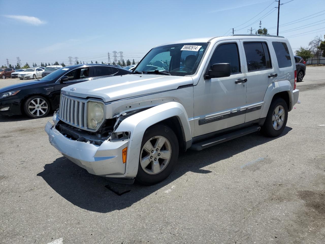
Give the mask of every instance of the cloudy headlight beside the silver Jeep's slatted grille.
[(87, 127), (97, 129), (104, 119), (104, 104), (101, 102), (87, 102)]

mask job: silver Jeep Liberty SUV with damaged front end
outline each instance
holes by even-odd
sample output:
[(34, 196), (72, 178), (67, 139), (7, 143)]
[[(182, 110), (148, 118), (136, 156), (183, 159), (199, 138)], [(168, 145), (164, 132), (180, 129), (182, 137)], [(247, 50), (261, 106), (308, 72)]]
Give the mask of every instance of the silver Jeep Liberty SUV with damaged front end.
[(45, 126), (60, 153), (115, 182), (164, 180), (179, 149), (202, 150), (260, 129), (277, 137), (299, 96), (292, 48), (278, 36), (159, 45), (136, 67), (62, 88), (54, 125)]

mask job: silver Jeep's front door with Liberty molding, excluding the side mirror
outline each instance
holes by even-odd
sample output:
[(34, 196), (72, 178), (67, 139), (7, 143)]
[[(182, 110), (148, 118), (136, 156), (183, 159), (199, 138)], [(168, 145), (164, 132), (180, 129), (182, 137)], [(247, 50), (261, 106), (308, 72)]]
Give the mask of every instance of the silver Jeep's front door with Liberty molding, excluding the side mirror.
[(246, 105), (246, 74), (240, 41), (218, 42), (210, 54), (205, 70), (215, 63), (230, 63), (231, 75), (204, 79), (204, 73), (198, 85), (194, 86), (194, 136), (245, 122), (243, 108)]

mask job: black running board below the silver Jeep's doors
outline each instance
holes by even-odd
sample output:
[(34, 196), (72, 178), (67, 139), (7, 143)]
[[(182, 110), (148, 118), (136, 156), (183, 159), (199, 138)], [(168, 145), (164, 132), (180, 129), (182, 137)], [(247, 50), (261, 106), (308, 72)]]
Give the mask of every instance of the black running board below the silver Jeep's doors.
[(234, 132), (230, 132), (221, 136), (217, 136), (214, 138), (209, 138), (201, 142), (197, 142), (192, 144), (192, 146), (189, 149), (195, 150), (195, 151), (201, 151), (202, 149), (205, 149), (207, 147), (211, 147), (217, 144), (220, 144), (222, 142), (227, 142), (229, 140), (235, 139), (240, 136), (244, 136), (256, 131), (259, 131), (261, 128), (259, 126), (249, 126), (244, 129), (236, 130)]

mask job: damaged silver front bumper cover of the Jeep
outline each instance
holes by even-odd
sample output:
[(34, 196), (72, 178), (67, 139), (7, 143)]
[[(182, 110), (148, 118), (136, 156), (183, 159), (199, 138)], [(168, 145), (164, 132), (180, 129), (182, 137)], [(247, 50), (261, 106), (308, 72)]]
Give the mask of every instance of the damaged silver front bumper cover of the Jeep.
[(123, 164), (122, 150), (128, 146), (128, 141), (105, 141), (100, 146), (74, 141), (62, 135), (50, 121), (45, 125), (45, 132), (52, 146), (89, 173), (105, 177), (123, 177), (125, 163)]

